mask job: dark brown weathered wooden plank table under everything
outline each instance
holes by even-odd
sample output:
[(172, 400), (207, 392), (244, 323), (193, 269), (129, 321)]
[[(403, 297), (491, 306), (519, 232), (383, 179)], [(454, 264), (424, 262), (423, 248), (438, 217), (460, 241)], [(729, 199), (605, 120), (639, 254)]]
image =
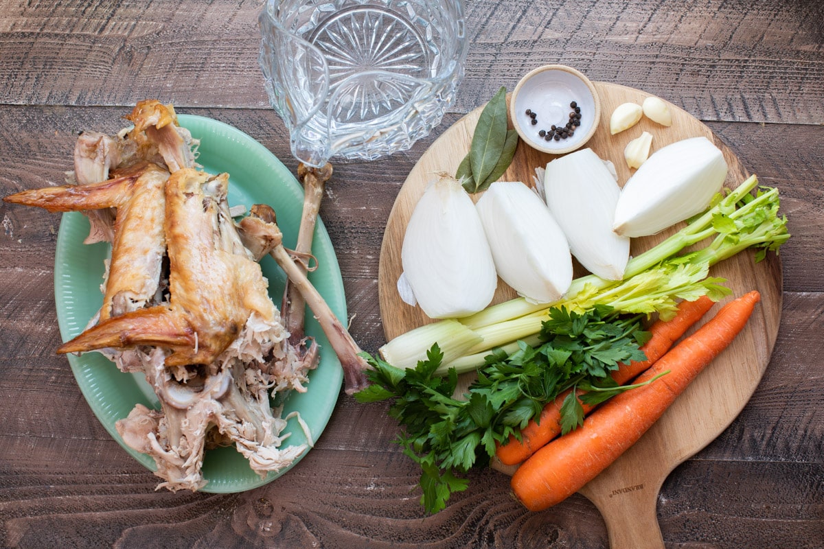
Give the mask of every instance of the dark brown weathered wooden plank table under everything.
[[(144, 98), (249, 133), (295, 170), (257, 67), (260, 2), (0, 3), (0, 195), (61, 183), (77, 132), (115, 131)], [(704, 121), (764, 184), (793, 237), (765, 376), (723, 435), (664, 483), (667, 547), (824, 547), (824, 4), (817, 0), (471, 0), (466, 79), (442, 126), (410, 151), (338, 165), (323, 202), (351, 332), (384, 336), (383, 229), (414, 162), (447, 125), (564, 63), (662, 96)], [(2, 547), (606, 547), (583, 496), (522, 509), (489, 470), (428, 516), (386, 407), (341, 395), (315, 449), (236, 495), (154, 491), (157, 478), (92, 415), (54, 305), (59, 216), (0, 205)]]

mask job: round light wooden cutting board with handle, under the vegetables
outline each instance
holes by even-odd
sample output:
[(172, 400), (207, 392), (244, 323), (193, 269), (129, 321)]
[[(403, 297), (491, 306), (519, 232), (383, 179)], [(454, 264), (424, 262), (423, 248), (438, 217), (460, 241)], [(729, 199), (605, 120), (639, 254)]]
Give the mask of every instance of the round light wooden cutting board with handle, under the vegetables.
[[(727, 160), (729, 171), (726, 186), (735, 187), (747, 178), (747, 170), (733, 152), (703, 123), (674, 105), (670, 105), (672, 126), (669, 128), (644, 117), (633, 128), (611, 135), (609, 117), (613, 109), (627, 101), (640, 105), (648, 94), (602, 82), (595, 82), (595, 86), (602, 103), (601, 121), (597, 132), (585, 147), (591, 147), (603, 159), (615, 164), (620, 184), (624, 184), (630, 177), (630, 170), (624, 161), (624, 148), (643, 131), (653, 134), (651, 154), (686, 137), (708, 137), (723, 151)], [(438, 137), (414, 165), (392, 207), (386, 224), (378, 275), (381, 314), (387, 340), (411, 328), (432, 322), (419, 308), (406, 305), (400, 300), (396, 290), (396, 281), (401, 272), (400, 248), (407, 221), (433, 174), (438, 171), (454, 174), (458, 163), (469, 151), (480, 110), (475, 109), (467, 114)], [(512, 165), (501, 179), (533, 184), (535, 168), (546, 165), (552, 158), (554, 156), (531, 149), (521, 142)], [(649, 249), (677, 228), (679, 227), (659, 235), (634, 239), (631, 253), (639, 254)], [(586, 274), (583, 268), (576, 265), (575, 275), (583, 274)], [(601, 511), (612, 549), (663, 547), (656, 503), (664, 479), (679, 463), (704, 448), (729, 426), (755, 391), (770, 361), (781, 314), (780, 259), (770, 254), (765, 261), (754, 263), (753, 254), (747, 251), (719, 263), (710, 275), (728, 280), (727, 285), (733, 290), (733, 296), (728, 300), (747, 291), (758, 290), (761, 292), (761, 303), (756, 307), (747, 328), (739, 334), (732, 346), (695, 379), (656, 425), (616, 463), (581, 490)], [(494, 302), (514, 296), (512, 289), (499, 281)], [(714, 314), (719, 307), (720, 305), (715, 305), (708, 316)], [(494, 467), (503, 472), (513, 471), (500, 464)], [(501, 482), (507, 481), (502, 477)], [(551, 512), (551, 509), (545, 512)]]

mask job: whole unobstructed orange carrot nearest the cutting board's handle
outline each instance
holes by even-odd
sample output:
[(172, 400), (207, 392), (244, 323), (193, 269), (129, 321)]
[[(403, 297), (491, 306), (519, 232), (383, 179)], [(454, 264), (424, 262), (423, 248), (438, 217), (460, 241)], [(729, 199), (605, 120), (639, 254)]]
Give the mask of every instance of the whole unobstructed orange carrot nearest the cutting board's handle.
[(527, 509), (546, 509), (565, 500), (606, 469), (658, 420), (695, 376), (737, 336), (761, 299), (751, 291), (725, 305), (690, 337), (644, 372), (648, 385), (620, 393), (598, 408), (583, 426), (546, 444), (513, 475), (511, 486)]

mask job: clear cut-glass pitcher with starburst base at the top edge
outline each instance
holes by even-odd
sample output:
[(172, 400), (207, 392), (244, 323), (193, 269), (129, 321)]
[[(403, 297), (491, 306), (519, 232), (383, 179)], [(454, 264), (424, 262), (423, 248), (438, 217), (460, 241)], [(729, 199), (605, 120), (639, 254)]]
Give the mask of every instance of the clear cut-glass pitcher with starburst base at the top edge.
[(463, 77), (463, 0), (268, 0), (258, 21), (266, 91), (306, 165), (408, 149)]

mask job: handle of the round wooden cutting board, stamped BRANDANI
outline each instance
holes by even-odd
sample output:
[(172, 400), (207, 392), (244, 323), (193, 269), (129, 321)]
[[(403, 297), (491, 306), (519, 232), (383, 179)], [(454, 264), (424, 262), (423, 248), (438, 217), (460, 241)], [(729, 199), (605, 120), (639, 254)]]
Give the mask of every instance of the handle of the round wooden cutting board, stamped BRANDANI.
[(601, 511), (610, 549), (664, 549), (658, 526), (658, 486), (626, 486), (590, 498)]

